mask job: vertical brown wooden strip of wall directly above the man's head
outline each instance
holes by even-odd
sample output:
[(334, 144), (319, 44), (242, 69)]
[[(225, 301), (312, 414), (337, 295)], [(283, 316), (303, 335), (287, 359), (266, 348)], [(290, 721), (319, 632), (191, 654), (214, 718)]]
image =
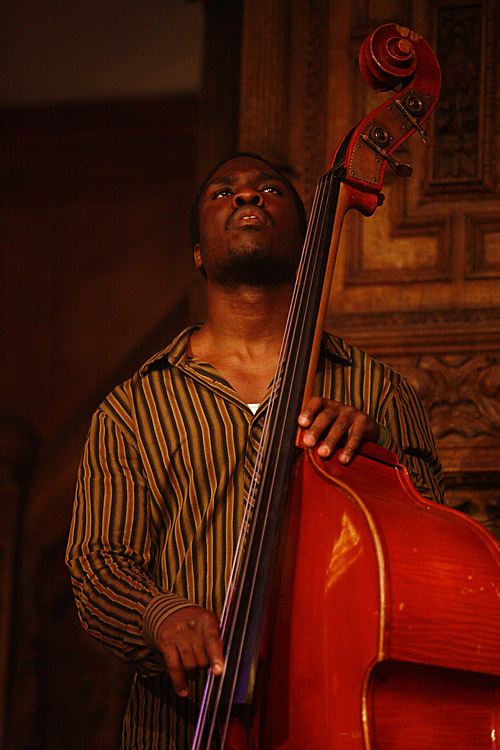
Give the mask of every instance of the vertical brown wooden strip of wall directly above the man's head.
[(279, 165), (308, 206), (325, 168), (328, 31), (324, 0), (245, 4), (239, 146)]

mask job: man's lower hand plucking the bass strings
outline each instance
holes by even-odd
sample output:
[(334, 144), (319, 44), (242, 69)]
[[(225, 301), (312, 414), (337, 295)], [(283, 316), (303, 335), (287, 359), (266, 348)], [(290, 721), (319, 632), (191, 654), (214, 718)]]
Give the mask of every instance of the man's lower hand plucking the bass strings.
[(175, 692), (183, 698), (188, 694), (189, 672), (212, 667), (214, 674), (222, 673), (222, 642), (213, 612), (194, 606), (177, 610), (160, 625), (156, 642)]

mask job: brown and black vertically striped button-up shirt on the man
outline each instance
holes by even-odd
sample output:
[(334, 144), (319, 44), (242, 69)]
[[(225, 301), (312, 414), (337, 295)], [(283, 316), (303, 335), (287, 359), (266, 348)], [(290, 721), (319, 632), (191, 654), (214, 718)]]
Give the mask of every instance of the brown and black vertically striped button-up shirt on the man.
[[(190, 746), (204, 677), (179, 698), (155, 648), (160, 623), (199, 604), (218, 615), (269, 394), (255, 414), (183, 331), (94, 414), (67, 551), (83, 626), (136, 675), (123, 750)], [(316, 392), (369, 414), (420, 492), (442, 502), (442, 474), (411, 384), (325, 335)]]

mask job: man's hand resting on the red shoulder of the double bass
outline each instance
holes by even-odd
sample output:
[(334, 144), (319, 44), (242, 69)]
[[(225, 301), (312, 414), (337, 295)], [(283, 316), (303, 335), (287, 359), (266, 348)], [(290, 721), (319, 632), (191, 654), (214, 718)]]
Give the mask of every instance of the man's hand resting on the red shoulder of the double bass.
[(328, 458), (346, 436), (339, 461), (349, 463), (360, 443), (376, 443), (380, 426), (368, 414), (339, 401), (313, 396), (299, 414), (299, 425), (304, 428), (304, 445), (313, 448), (318, 444), (318, 454)]

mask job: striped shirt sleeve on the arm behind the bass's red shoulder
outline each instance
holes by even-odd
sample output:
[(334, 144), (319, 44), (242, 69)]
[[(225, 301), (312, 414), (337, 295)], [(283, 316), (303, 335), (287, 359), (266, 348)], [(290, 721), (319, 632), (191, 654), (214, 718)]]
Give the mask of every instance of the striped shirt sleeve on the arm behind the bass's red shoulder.
[(421, 495), (444, 503), (444, 479), (425, 409), (412, 384), (402, 378), (379, 418), (386, 427), (384, 448), (406, 466)]

